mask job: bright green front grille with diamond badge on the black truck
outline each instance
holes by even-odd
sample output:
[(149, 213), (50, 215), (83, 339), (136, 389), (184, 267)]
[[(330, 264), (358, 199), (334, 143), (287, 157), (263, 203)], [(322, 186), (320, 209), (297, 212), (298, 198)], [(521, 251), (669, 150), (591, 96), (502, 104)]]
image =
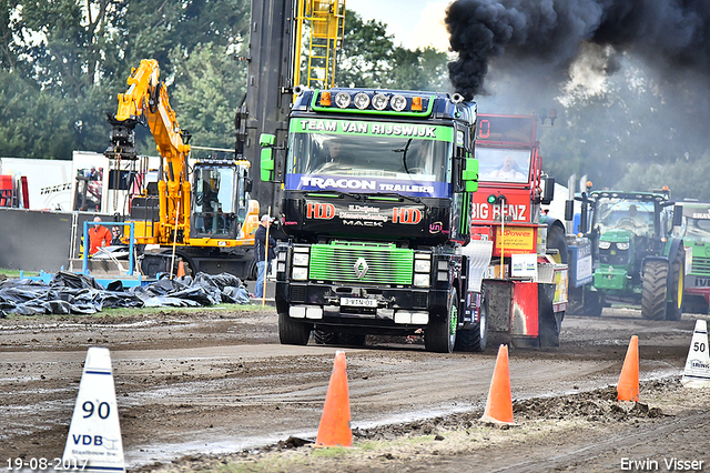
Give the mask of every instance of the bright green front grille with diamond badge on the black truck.
[(333, 242), (311, 248), (308, 279), (412, 284), (414, 251), (389, 243)]

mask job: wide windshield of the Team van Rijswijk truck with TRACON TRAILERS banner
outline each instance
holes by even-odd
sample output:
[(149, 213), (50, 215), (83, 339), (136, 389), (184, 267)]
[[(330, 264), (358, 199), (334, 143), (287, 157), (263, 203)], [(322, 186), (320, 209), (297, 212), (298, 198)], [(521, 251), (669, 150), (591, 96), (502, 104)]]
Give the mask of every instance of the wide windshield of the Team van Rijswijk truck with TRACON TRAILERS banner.
[(436, 139), (292, 133), (286, 189), (449, 197), (450, 157), (452, 142)]

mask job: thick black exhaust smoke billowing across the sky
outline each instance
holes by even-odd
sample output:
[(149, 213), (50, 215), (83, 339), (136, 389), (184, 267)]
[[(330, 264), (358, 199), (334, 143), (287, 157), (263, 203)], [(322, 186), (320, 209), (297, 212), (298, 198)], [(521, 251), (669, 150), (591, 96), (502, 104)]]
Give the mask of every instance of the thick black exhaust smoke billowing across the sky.
[(710, 76), (710, 0), (457, 0), (446, 23), (450, 80), (469, 99), (486, 93), (491, 63), (545, 64), (559, 79), (590, 50), (612, 51), (606, 73), (623, 53), (666, 74)]

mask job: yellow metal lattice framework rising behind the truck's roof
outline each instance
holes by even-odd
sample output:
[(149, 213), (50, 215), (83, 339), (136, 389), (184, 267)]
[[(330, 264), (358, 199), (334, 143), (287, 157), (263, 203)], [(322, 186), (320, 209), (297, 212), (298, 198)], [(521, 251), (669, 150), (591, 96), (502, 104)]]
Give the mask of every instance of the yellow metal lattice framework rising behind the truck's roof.
[[(345, 0), (298, 0), (294, 84), (301, 83), (302, 57), (305, 53), (306, 83), (312, 88), (335, 85), (337, 50), (345, 34)], [(307, 50), (303, 48), (304, 30), (310, 32)]]

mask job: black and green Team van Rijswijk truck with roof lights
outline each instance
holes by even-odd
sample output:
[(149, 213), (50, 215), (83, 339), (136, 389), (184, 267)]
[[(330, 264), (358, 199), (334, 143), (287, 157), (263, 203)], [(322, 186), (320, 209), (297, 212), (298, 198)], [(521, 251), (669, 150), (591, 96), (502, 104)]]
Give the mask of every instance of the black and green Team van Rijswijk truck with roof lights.
[(368, 333), (423, 333), (428, 351), (484, 350), (463, 251), (477, 189), (476, 103), (440, 92), (298, 92), (287, 145), (260, 139), (262, 182), (283, 189), (281, 343), (305, 345), (312, 330), (353, 345)]

